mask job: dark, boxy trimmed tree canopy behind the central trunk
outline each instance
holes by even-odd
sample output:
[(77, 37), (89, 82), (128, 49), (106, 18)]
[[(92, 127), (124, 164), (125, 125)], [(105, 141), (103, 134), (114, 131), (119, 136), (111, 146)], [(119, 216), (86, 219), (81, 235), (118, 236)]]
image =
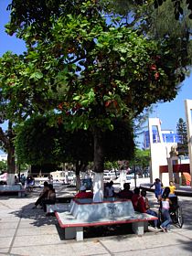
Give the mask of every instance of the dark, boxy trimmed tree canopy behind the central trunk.
[[(93, 161), (93, 137), (89, 130), (73, 133), (65, 125), (49, 125), (51, 115), (28, 119), (16, 127), (16, 155), (19, 163), (31, 165), (88, 163)], [(113, 123), (113, 131), (103, 139), (105, 160), (131, 159), (133, 156), (132, 125)]]

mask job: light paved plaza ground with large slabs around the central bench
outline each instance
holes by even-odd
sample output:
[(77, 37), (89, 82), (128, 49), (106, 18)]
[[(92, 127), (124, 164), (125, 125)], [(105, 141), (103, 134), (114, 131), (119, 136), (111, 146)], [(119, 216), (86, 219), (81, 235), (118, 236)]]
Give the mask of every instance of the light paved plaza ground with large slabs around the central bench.
[[(73, 195), (72, 188), (56, 187), (59, 196)], [(163, 233), (150, 228), (138, 237), (127, 230), (97, 236), (94, 230), (83, 241), (64, 240), (55, 217), (46, 217), (41, 208), (32, 209), (40, 188), (27, 197), (0, 197), (0, 256), (191, 256), (192, 255), (192, 197), (179, 197), (185, 224)], [(153, 193), (147, 196), (152, 208), (158, 207)], [(101, 228), (100, 228), (101, 229)], [(124, 226), (125, 229), (125, 226)], [(123, 230), (124, 231), (124, 230)]]

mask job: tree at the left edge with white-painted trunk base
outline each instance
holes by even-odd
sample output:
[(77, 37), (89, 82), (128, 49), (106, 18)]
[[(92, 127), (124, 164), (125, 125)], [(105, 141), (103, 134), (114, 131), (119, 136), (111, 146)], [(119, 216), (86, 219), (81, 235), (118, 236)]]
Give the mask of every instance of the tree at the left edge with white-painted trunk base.
[[(11, 52), (6, 52), (0, 58), (0, 123), (5, 125), (7, 123), (5, 131), (0, 127), (0, 145), (7, 153), (7, 183), (9, 184), (15, 183), (16, 172), (14, 127), (16, 123), (38, 112), (38, 109), (34, 109), (35, 106), (33, 106), (33, 90), (29, 93), (28, 90), (19, 89), (19, 76), (23, 76), (25, 80), (25, 69), (27, 68), (23, 59), (22, 55), (17, 56)], [(5, 83), (6, 86), (4, 86)], [(14, 86), (18, 87), (15, 94), (12, 94), (12, 87)], [(18, 108), (18, 104), (20, 107), (22, 106), (22, 109)]]

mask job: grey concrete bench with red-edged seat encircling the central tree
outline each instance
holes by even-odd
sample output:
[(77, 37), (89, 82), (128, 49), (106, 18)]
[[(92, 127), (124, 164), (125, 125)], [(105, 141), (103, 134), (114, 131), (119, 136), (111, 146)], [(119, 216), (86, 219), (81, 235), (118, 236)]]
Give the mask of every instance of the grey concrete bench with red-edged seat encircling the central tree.
[(83, 240), (83, 228), (91, 226), (109, 226), (132, 223), (133, 232), (144, 235), (148, 221), (157, 219), (154, 216), (138, 213), (133, 210), (131, 200), (114, 199), (102, 203), (82, 202), (73, 199), (69, 210), (55, 212), (59, 226), (65, 229), (65, 239)]

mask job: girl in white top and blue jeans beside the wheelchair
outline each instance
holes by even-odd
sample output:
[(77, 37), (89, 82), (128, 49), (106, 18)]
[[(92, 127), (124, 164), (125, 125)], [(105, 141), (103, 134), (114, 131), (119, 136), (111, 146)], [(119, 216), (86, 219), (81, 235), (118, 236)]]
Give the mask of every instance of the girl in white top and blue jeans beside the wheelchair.
[(169, 213), (169, 208), (170, 208), (170, 199), (169, 199), (169, 193), (170, 193), (170, 188), (169, 187), (165, 187), (164, 189), (164, 193), (162, 195), (162, 199), (161, 199), (161, 212), (162, 212), (162, 216), (164, 219), (164, 222), (161, 223), (160, 228), (164, 231), (167, 232), (170, 229), (170, 224), (172, 223), (172, 219), (170, 217), (170, 213)]

